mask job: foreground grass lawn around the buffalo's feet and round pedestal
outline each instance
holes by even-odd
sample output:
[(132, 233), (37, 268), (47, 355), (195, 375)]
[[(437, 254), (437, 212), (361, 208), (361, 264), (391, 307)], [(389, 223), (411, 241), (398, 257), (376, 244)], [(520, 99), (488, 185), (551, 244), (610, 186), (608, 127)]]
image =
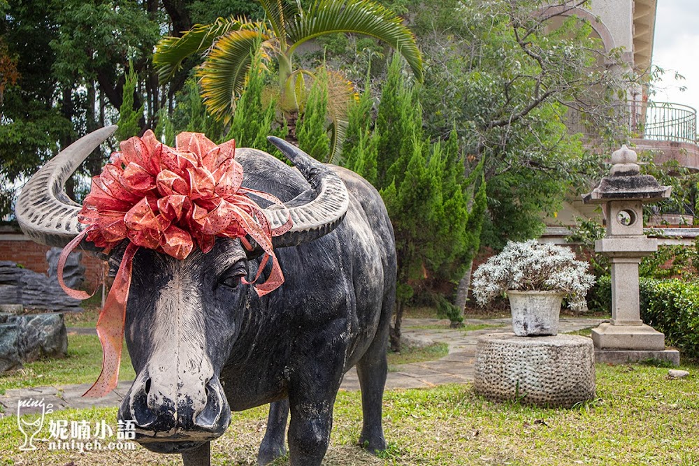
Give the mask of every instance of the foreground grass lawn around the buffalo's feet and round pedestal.
[[(379, 458), (356, 444), (359, 393), (341, 392), (335, 405), (325, 465), (696, 465), (699, 463), (699, 366), (686, 379), (645, 365), (597, 366), (597, 400), (575, 409), (495, 404), (470, 385), (387, 391), (384, 430), (389, 448)], [(101, 421), (115, 426), (116, 409), (57, 412), (53, 420)], [(37, 437), (48, 436), (48, 423)], [(254, 465), (266, 409), (234, 413), (212, 444), (214, 465)], [(0, 465), (180, 465), (179, 456), (135, 451), (20, 452), (14, 417), (0, 420)], [(287, 464), (282, 459), (277, 465)]]

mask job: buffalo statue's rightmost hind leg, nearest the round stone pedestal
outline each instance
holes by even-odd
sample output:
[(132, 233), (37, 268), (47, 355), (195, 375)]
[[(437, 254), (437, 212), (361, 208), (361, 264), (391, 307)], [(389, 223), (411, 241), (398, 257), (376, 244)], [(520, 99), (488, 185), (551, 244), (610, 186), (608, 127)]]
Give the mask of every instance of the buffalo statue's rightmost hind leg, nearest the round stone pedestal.
[(370, 347), (356, 365), (361, 388), (362, 428), (359, 445), (370, 453), (386, 449), (384, 430), (382, 428), (382, 401), (386, 384), (386, 348), (388, 344), (388, 326), (374, 337)]

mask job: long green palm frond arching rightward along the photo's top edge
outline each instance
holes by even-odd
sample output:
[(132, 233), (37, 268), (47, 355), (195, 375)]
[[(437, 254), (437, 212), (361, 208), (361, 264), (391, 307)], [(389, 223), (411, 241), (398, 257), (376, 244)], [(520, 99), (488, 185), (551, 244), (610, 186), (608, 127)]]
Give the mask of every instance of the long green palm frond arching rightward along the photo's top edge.
[(298, 45), (312, 38), (338, 32), (363, 34), (384, 41), (408, 61), (412, 72), (422, 80), (422, 57), (415, 36), (403, 26), (400, 17), (369, 0), (316, 0), (303, 15), (287, 18), (291, 55)]

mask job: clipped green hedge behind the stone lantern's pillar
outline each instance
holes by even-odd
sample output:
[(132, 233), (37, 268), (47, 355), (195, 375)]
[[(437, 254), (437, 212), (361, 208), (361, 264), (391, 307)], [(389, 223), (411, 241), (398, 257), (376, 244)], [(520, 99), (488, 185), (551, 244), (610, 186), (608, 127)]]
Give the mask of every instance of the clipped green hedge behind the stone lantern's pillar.
[[(665, 342), (683, 356), (699, 358), (699, 282), (641, 278), (640, 311), (644, 323), (665, 334)], [(591, 308), (612, 309), (612, 281), (600, 277), (589, 294)]]

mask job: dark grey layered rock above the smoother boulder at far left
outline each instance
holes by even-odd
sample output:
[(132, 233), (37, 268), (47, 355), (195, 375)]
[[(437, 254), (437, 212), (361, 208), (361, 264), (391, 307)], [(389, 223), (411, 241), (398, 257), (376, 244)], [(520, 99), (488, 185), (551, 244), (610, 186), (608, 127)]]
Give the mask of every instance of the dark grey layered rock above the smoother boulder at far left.
[(66, 295), (57, 279), (0, 261), (0, 303), (22, 304), (27, 309), (81, 312), (80, 300)]

